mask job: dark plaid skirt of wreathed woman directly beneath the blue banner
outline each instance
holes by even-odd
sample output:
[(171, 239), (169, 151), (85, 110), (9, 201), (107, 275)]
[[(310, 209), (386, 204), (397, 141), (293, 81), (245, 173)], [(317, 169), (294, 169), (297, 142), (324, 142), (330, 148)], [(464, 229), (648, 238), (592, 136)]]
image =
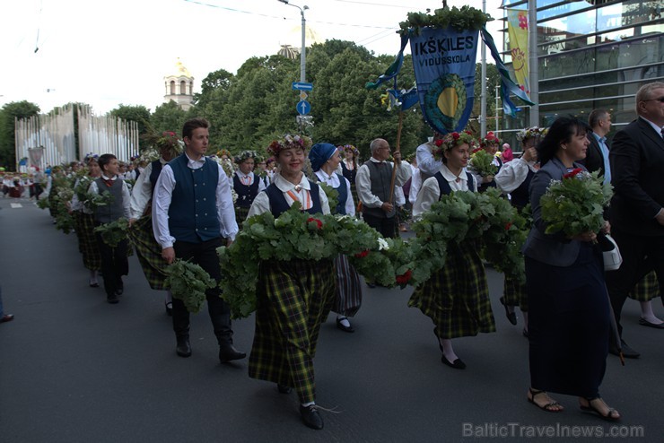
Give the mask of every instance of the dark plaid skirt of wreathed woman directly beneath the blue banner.
[(450, 244), (445, 265), (408, 301), (438, 328), (441, 339), (495, 332), (485, 267), (476, 241)]

